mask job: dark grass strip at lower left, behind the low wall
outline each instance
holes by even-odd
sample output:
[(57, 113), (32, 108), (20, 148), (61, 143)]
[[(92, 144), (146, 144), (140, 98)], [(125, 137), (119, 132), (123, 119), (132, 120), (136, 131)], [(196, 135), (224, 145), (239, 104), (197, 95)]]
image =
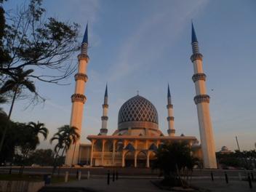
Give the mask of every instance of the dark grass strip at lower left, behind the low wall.
[[(44, 175), (18, 175), (18, 174), (1, 174), (0, 175), (0, 180), (25, 180), (25, 181), (31, 181), (31, 182), (36, 182), (36, 181), (43, 181), (44, 180)], [(77, 180), (76, 177), (68, 177), (68, 181), (72, 180)], [(58, 177), (55, 175), (51, 179), (51, 183), (64, 183), (65, 182), (65, 177), (60, 176)]]

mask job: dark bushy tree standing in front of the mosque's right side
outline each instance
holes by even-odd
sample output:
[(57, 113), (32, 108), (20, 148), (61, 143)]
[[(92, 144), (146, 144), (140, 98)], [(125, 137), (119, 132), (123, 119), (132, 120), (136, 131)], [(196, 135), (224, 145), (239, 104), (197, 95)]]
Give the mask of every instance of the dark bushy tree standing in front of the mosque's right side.
[(191, 152), (187, 143), (167, 143), (159, 147), (153, 169), (163, 172), (163, 185), (188, 186), (188, 174), (192, 174), (198, 161)]

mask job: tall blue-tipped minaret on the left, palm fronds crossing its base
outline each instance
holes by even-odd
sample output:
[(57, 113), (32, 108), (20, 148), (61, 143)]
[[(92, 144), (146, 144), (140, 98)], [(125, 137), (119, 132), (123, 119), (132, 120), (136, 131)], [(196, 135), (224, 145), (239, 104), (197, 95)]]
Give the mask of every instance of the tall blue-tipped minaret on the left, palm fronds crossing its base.
[[(84, 103), (87, 97), (84, 95), (85, 83), (87, 82), (87, 64), (89, 56), (87, 55), (88, 49), (88, 24), (84, 33), (84, 39), (81, 43), (81, 53), (77, 56), (79, 60), (78, 73), (75, 75), (76, 88), (75, 93), (71, 96), (72, 109), (71, 109), (71, 127), (78, 129), (81, 135), (81, 122), (83, 119)], [(80, 138), (81, 139), (81, 138)], [(65, 156), (65, 164), (72, 165), (79, 163), (79, 145), (80, 140), (76, 144), (71, 145)]]

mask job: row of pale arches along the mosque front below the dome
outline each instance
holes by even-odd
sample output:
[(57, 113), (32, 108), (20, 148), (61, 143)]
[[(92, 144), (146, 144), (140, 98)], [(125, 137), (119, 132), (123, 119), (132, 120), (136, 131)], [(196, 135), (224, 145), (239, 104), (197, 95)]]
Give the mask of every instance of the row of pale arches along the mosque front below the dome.
[[(164, 137), (89, 136), (92, 141), (90, 165), (104, 167), (151, 167), (156, 151), (162, 143), (170, 142)], [(173, 141), (196, 141), (193, 137), (176, 137)]]

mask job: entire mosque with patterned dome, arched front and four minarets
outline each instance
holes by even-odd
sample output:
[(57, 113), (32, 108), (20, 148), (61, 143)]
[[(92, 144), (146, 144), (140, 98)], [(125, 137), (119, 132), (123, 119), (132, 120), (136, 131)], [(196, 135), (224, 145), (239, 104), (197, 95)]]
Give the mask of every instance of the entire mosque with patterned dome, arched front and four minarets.
[[(205, 85), (206, 75), (202, 68), (202, 55), (192, 23), (192, 51), (191, 62), (194, 74), (192, 80), (196, 88), (194, 102), (197, 107), (201, 144), (196, 137), (175, 135), (172, 98), (167, 87), (167, 135), (159, 129), (158, 113), (155, 106), (145, 97), (135, 95), (127, 100), (119, 110), (118, 127), (112, 135), (108, 135), (108, 87), (105, 87), (103, 102), (102, 127), (98, 135), (88, 135), (91, 144), (82, 144), (78, 140), (66, 153), (65, 164), (89, 164), (92, 167), (151, 167), (156, 159), (156, 151), (163, 143), (185, 141), (193, 149), (193, 155), (201, 158), (205, 168), (217, 168), (215, 157), (215, 141), (212, 122), (209, 115), (209, 95)], [(79, 67), (75, 75), (75, 93), (71, 96), (71, 126), (79, 129), (81, 121), (84, 95), (87, 83), (87, 64), (89, 56), (88, 26), (81, 43), (81, 53), (78, 55)]]

